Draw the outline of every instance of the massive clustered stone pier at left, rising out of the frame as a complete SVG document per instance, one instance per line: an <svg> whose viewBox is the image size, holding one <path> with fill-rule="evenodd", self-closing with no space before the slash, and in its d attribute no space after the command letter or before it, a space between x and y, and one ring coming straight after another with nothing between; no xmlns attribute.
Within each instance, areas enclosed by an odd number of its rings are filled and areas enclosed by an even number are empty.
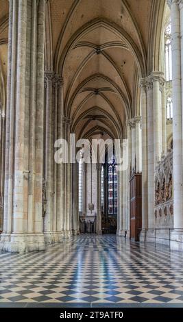
<svg viewBox="0 0 183 322"><path fill-rule="evenodd" d="M10 0L9 8L5 221L0 249L39 250L45 247L42 234L45 1ZM32 53L35 58L34 66ZM34 75L36 75L35 173L31 168L32 160L29 153L30 128L34 126L34 121L32 118L27 119L33 111L29 95L33 90ZM29 179L34 176L35 198L32 199L34 211L31 212ZM31 214L34 217L29 219Z"/></svg>

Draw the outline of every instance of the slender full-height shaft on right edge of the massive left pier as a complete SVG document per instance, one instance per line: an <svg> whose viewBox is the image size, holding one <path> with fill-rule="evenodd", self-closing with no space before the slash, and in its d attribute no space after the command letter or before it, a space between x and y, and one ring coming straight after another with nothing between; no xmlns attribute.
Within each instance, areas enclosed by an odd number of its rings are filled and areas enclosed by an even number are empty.
<svg viewBox="0 0 183 322"><path fill-rule="evenodd" d="M34 233L42 238L42 178L43 178L43 119L44 119L44 63L45 63L45 2L34 0L37 5L36 45L36 136L35 136L35 187L34 187ZM34 14L32 15L34 18ZM30 50L32 50L30 48ZM32 66L31 66L32 69ZM30 125L32 127L32 125Z"/></svg>

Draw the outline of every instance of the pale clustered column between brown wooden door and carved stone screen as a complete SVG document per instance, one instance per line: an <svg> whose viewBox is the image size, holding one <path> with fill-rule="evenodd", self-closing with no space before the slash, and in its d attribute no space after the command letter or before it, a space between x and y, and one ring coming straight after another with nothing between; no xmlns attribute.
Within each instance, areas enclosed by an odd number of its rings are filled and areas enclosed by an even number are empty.
<svg viewBox="0 0 183 322"><path fill-rule="evenodd" d="M164 104L164 78L160 72L154 72L141 79L142 110L142 219L144 238L145 229L149 229L149 238L154 236L154 170L166 152Z"/></svg>

